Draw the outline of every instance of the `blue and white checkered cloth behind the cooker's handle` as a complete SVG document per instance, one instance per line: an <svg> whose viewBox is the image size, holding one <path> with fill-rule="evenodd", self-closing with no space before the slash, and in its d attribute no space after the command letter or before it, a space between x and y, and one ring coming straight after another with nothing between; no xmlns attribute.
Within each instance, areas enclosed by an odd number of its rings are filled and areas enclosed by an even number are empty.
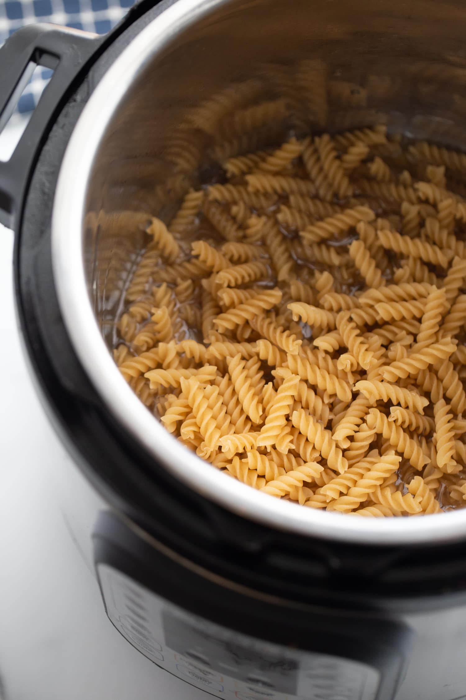
<svg viewBox="0 0 466 700"><path fill-rule="evenodd" d="M106 34L135 0L0 0L0 45L16 29L34 22L52 22ZM17 112L34 110L52 71L37 66L17 104Z"/></svg>

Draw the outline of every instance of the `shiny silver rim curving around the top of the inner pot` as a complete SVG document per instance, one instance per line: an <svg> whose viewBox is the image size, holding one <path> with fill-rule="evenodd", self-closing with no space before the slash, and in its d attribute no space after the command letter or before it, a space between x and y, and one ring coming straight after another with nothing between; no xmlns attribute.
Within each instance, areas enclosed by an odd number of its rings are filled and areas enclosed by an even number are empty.
<svg viewBox="0 0 466 700"><path fill-rule="evenodd" d="M152 57L180 31L226 1L177 0L164 10L110 66L73 130L54 197L52 267L59 307L75 352L108 410L157 461L191 489L241 517L290 533L359 545L438 545L462 540L466 537L466 508L442 517L353 518L298 507L226 478L156 421L126 384L105 345L87 292L82 246L94 157L126 91Z"/></svg>

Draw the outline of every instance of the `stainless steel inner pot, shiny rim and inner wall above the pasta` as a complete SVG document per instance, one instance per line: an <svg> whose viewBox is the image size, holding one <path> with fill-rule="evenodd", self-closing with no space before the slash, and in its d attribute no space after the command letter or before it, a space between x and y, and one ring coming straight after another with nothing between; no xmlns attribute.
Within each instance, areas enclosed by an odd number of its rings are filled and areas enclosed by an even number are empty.
<svg viewBox="0 0 466 700"><path fill-rule="evenodd" d="M154 459L245 517L353 542L466 537L466 509L369 521L264 496L166 432L109 351L122 290L147 242L147 215L170 216L189 186L215 178L217 116L231 110L232 95L243 108L284 99L282 122L261 130L257 148L292 133L386 123L391 132L461 149L465 27L461 0L178 0L119 56L73 132L54 202L52 253L78 357L109 411Z"/></svg>

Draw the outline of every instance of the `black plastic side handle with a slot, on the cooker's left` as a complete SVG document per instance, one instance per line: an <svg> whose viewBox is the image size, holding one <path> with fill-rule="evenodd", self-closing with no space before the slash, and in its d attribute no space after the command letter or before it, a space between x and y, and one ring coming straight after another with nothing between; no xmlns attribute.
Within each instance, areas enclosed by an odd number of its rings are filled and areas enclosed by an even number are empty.
<svg viewBox="0 0 466 700"><path fill-rule="evenodd" d="M54 70L13 155L0 162L0 223L17 230L31 167L67 88L102 37L79 29L38 24L18 29L0 49L0 132L36 65Z"/></svg>

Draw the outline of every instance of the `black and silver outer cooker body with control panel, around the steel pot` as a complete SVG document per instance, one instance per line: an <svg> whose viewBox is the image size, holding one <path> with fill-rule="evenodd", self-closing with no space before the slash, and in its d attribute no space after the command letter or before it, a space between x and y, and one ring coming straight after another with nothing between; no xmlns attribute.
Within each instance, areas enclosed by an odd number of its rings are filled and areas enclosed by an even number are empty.
<svg viewBox="0 0 466 700"><path fill-rule="evenodd" d="M155 679L159 666L176 675L185 682L176 695L182 700L206 693L238 700L466 697L464 543L338 545L238 517L154 464L105 409L75 356L52 276L55 185L89 94L158 11L146 9L89 64L51 125L15 241L31 372L88 479L73 465L57 465L55 505L67 514L83 566L92 568L112 633L126 639L128 655L118 661L131 675L137 650L147 659L138 673ZM75 602L83 620L95 615ZM96 649L93 673L106 653ZM135 697L157 697L156 686L148 687Z"/></svg>

